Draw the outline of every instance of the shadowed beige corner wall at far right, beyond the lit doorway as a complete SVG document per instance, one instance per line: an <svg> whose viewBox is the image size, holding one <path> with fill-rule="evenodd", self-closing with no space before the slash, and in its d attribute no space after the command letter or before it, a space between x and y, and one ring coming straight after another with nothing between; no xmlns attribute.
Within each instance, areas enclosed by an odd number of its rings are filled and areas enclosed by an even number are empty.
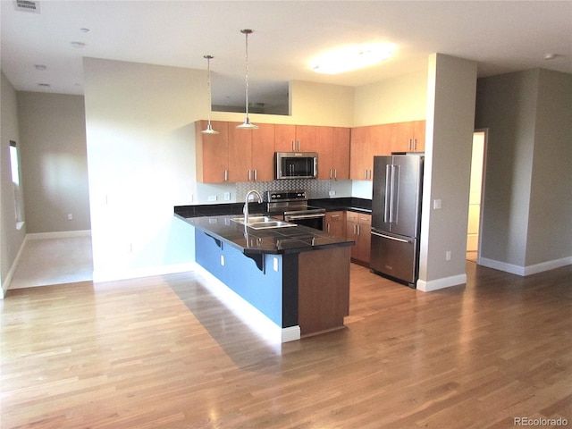
<svg viewBox="0 0 572 429"><path fill-rule="evenodd" d="M481 261L526 275L572 263L572 75L547 70L479 80L488 129Z"/></svg>

